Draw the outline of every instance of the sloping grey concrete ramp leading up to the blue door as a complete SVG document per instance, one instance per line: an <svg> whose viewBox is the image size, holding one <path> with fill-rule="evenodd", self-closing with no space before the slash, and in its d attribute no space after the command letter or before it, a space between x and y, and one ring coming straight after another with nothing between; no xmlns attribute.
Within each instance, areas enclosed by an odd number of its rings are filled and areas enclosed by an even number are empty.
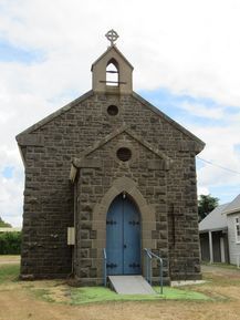
<svg viewBox="0 0 240 320"><path fill-rule="evenodd" d="M108 276L111 286L121 295L156 295L142 276Z"/></svg>

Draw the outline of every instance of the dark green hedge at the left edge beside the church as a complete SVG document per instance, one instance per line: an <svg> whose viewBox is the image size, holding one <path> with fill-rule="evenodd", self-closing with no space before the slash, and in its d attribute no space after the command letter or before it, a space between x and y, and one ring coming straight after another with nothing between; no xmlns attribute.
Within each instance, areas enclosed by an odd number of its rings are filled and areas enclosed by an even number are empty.
<svg viewBox="0 0 240 320"><path fill-rule="evenodd" d="M0 233L0 255L21 254L22 233Z"/></svg>

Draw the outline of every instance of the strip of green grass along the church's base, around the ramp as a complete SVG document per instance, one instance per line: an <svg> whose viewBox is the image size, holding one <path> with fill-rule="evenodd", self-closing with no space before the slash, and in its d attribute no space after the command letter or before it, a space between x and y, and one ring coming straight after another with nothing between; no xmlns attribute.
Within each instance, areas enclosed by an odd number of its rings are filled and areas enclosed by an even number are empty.
<svg viewBox="0 0 240 320"><path fill-rule="evenodd" d="M19 276L19 264L0 265L0 285L17 282ZM58 295L69 296L64 303L84 304L91 302L105 301L156 301L156 300L211 300L204 293L196 292L189 289L176 289L164 287L164 293L156 295L117 295L116 292L104 287L84 287L73 288L58 281L18 281L25 289L40 299L49 302L55 302L54 292L59 287ZM15 285L18 285L15 283ZM155 287L156 292L160 292L159 287Z"/></svg>

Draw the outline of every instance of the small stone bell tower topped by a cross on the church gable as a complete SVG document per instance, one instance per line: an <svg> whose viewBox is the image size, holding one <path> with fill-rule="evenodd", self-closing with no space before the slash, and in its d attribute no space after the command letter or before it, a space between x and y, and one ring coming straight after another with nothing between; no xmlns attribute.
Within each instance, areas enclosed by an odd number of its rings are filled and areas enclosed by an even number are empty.
<svg viewBox="0 0 240 320"><path fill-rule="evenodd" d="M94 92L131 94L133 92L133 65L114 43L118 34L114 30L106 33L111 45L92 65Z"/></svg>

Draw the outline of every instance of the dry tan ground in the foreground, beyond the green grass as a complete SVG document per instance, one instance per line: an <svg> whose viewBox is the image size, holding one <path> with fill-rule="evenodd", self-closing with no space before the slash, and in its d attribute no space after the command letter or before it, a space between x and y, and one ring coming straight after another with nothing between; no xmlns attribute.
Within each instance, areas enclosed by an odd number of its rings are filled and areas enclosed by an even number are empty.
<svg viewBox="0 0 240 320"><path fill-rule="evenodd" d="M0 320L239 320L240 270L204 267L204 276L207 283L194 286L194 290L217 297L215 301L159 300L71 306L61 297L59 302L42 301L29 290L30 287L48 288L53 281L9 281L0 285ZM61 286L55 286L55 298L58 290L61 292L63 289Z"/></svg>

